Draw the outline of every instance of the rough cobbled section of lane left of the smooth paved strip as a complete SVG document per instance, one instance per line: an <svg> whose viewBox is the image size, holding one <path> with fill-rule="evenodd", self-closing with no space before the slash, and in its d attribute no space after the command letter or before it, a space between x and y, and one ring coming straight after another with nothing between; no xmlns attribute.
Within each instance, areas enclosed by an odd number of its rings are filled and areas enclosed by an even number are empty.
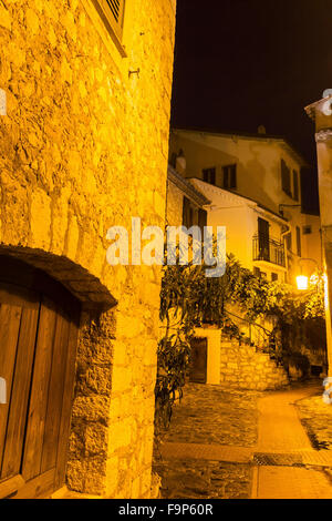
<svg viewBox="0 0 332 521"><path fill-rule="evenodd" d="M199 384L185 387L162 448L163 458L155 464L163 498L250 497L260 396Z"/></svg>

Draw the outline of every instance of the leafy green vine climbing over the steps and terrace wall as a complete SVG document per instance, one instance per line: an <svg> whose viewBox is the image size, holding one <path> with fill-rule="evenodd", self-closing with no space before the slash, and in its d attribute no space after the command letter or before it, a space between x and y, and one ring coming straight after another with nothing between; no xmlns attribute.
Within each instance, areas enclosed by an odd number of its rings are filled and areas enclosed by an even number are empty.
<svg viewBox="0 0 332 521"><path fill-rule="evenodd" d="M283 356L292 349L294 337L308 320L323 327L323 277L320 275L305 294L291 286L255 276L229 255L222 277L207 278L205 266L165 266L160 293L162 338L158 344L155 427L157 436L168 427L175 400L180 399L190 362L190 340L195 327L216 324L237 336L237 326L226 313L236 304L249 320L277 318ZM298 357L299 358L299 357Z"/></svg>

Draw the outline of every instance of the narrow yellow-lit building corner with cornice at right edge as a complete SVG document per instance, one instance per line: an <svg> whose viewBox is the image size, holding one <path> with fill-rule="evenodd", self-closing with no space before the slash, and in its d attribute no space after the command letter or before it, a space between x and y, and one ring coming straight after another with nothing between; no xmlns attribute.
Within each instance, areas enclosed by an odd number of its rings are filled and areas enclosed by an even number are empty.
<svg viewBox="0 0 332 521"><path fill-rule="evenodd" d="M326 344L329 376L332 377L332 90L323 99L305 108L315 123L319 192L323 241L323 263L328 275L325 287Z"/></svg>

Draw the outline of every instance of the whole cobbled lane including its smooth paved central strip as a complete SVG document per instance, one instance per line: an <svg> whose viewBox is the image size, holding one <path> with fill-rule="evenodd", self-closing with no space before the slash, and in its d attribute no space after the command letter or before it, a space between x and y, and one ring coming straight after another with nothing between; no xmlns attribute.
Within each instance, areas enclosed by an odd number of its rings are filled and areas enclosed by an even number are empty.
<svg viewBox="0 0 332 521"><path fill-rule="evenodd" d="M187 385L155 459L162 497L332 499L331 432L314 382L278 392Z"/></svg>

